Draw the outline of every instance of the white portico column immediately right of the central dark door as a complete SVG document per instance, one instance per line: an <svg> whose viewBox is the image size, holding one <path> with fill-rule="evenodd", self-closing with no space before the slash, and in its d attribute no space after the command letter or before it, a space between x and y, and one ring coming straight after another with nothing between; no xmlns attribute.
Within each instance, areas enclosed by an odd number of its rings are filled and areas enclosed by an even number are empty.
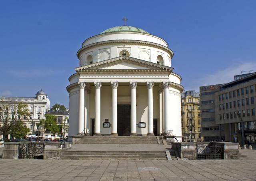
<svg viewBox="0 0 256 181"><path fill-rule="evenodd" d="M136 114L137 82L130 82L130 86L131 86L131 135L137 135L137 114Z"/></svg>

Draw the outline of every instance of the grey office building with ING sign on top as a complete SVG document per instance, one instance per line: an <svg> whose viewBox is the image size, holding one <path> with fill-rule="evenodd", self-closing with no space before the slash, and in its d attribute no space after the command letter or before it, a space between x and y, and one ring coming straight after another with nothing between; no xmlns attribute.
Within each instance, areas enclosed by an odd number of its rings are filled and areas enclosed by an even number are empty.
<svg viewBox="0 0 256 181"><path fill-rule="evenodd" d="M201 106L201 136L204 141L222 141L224 133L220 134L220 127L215 122L215 93L222 84L200 87Z"/></svg>

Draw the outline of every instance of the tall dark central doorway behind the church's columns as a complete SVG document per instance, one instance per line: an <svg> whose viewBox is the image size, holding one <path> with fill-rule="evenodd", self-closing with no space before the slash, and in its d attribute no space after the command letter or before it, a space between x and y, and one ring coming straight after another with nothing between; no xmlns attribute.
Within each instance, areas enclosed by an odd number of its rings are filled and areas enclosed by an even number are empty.
<svg viewBox="0 0 256 181"><path fill-rule="evenodd" d="M131 105L117 105L117 133L119 136L130 136Z"/></svg>

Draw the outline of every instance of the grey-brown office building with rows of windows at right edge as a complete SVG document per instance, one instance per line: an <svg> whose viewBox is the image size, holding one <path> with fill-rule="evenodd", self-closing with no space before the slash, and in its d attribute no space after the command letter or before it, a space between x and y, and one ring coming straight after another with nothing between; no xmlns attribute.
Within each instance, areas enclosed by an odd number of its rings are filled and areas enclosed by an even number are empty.
<svg viewBox="0 0 256 181"><path fill-rule="evenodd" d="M224 126L225 141L256 140L256 73L220 86L215 94L216 123ZM243 124L242 124L243 123ZM243 129L242 130L242 125Z"/></svg>

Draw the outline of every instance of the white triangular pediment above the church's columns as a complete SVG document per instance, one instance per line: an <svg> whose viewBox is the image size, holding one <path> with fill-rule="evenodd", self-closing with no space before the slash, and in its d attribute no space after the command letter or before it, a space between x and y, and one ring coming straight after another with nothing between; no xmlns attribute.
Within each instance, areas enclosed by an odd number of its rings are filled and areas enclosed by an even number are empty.
<svg viewBox="0 0 256 181"><path fill-rule="evenodd" d="M77 72L84 70L164 70L172 71L173 68L168 66L163 66L160 64L155 64L145 60L140 60L127 56L120 56L117 58L112 58L109 60L104 60L101 62L96 62L94 64L81 66L75 68Z"/></svg>

